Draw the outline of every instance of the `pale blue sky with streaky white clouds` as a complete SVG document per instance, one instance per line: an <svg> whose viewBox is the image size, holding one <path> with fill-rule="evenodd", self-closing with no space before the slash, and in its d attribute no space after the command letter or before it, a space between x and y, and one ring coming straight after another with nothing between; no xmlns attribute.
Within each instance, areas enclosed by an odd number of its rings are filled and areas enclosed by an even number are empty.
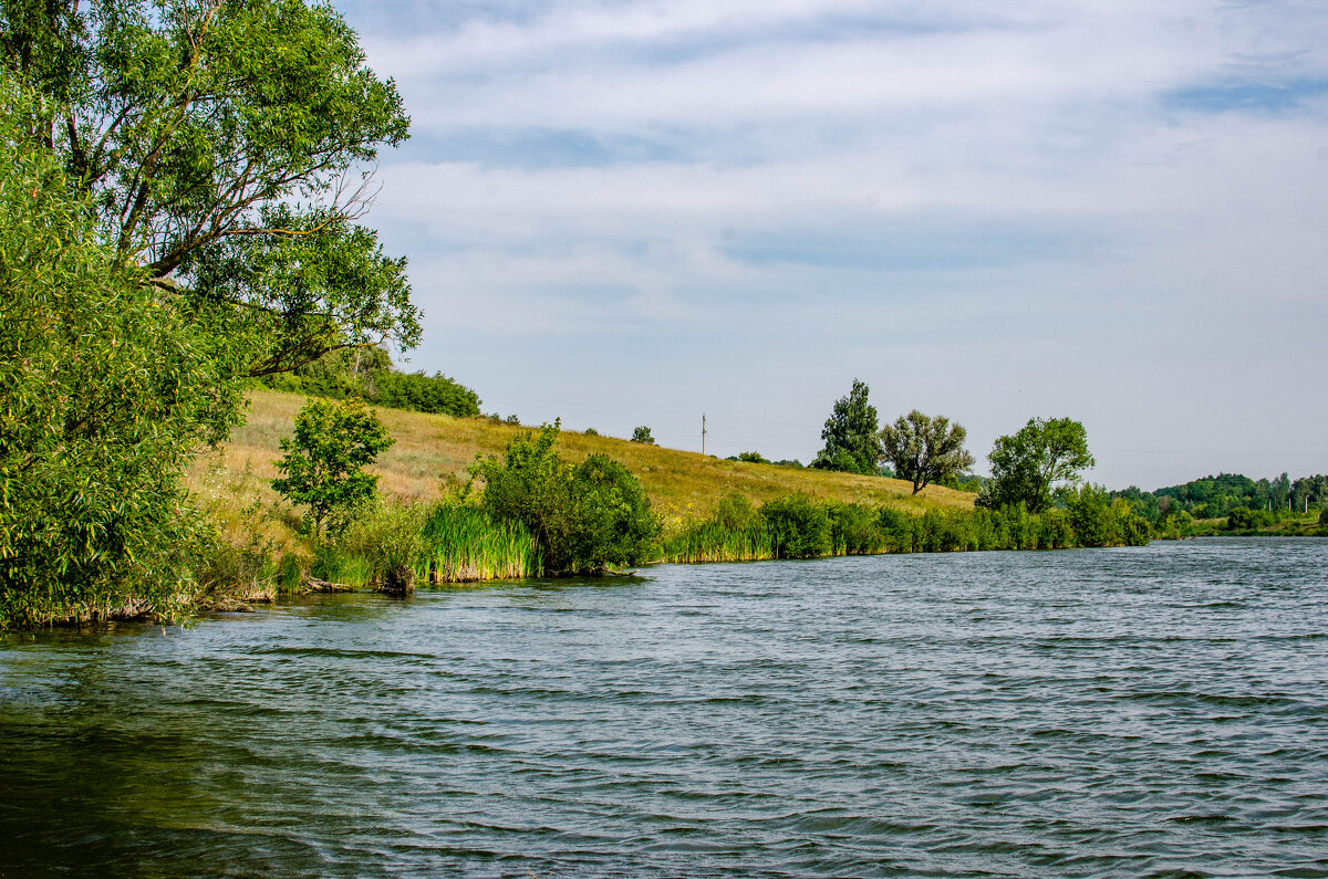
<svg viewBox="0 0 1328 879"><path fill-rule="evenodd" d="M406 369L803 463L1082 421L1109 487L1328 473L1323 0L336 0L412 138Z"/></svg>

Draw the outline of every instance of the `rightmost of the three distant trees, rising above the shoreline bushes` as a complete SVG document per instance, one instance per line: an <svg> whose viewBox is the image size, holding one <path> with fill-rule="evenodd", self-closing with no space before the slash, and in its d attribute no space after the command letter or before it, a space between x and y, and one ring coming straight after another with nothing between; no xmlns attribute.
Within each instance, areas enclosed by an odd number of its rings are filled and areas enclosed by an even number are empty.
<svg viewBox="0 0 1328 879"><path fill-rule="evenodd" d="M992 478L979 493L977 505L1023 502L1031 513L1052 506L1056 483L1073 483L1080 470L1096 463L1088 450L1088 432L1070 418L1031 418L1019 433L999 437L987 459Z"/></svg>

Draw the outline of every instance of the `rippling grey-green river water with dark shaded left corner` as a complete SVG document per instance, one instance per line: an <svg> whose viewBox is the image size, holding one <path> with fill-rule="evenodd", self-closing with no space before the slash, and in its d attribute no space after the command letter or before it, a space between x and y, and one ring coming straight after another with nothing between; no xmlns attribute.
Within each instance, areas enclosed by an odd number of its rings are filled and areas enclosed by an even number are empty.
<svg viewBox="0 0 1328 879"><path fill-rule="evenodd" d="M1328 876L1328 539L0 635L0 875Z"/></svg>

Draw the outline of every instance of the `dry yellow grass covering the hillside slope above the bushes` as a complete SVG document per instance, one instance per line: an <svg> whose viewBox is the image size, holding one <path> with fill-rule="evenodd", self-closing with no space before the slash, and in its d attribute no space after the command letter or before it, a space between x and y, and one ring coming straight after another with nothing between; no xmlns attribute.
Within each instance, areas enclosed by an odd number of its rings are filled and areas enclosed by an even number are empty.
<svg viewBox="0 0 1328 879"><path fill-rule="evenodd" d="M255 390L250 394L248 420L223 449L195 465L191 481L207 497L232 497L234 503L272 503L278 442L293 432L295 413L304 405L297 394ZM441 479L465 479L477 454L502 454L507 441L530 430L493 424L486 418L452 418L417 412L378 409L378 417L396 438L371 471L386 495L405 501L437 498ZM588 454L607 454L632 471L667 524L679 526L708 515L725 494L738 491L753 505L791 491L841 502L888 505L911 513L928 507L972 509L973 495L943 486L927 486L912 497L902 479L859 477L822 470L798 470L765 463L721 461L695 451L647 446L612 437L562 434L564 458L580 461Z"/></svg>

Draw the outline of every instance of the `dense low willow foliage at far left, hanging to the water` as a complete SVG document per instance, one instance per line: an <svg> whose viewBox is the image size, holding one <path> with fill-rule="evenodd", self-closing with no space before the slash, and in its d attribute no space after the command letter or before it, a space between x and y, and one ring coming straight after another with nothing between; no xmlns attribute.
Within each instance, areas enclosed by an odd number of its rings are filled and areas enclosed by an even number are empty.
<svg viewBox="0 0 1328 879"><path fill-rule="evenodd" d="M0 625L183 608L195 450L238 389L178 303L100 243L0 77Z"/></svg>

